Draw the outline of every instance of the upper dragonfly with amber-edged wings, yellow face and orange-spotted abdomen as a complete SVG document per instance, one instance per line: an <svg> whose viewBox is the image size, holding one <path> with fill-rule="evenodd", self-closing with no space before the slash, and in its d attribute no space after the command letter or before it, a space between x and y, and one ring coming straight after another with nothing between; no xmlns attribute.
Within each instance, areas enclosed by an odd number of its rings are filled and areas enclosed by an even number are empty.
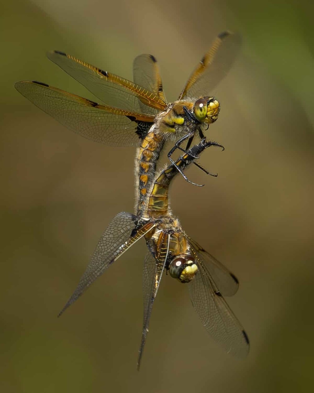
<svg viewBox="0 0 314 393"><path fill-rule="evenodd" d="M195 135L219 115L219 101L210 91L226 75L241 45L239 34L225 31L190 75L177 101L167 103L157 60L139 55L133 62L133 82L104 71L62 51L47 57L83 84L100 103L37 81L21 81L15 88L61 124L81 136L109 146L136 146L136 214L147 209L159 155L164 144L177 140L168 152L186 151ZM186 147L181 145L186 141ZM195 165L204 170L199 164ZM191 182L177 167L185 180ZM210 173L208 173L210 174ZM199 185L199 184L195 184Z"/></svg>

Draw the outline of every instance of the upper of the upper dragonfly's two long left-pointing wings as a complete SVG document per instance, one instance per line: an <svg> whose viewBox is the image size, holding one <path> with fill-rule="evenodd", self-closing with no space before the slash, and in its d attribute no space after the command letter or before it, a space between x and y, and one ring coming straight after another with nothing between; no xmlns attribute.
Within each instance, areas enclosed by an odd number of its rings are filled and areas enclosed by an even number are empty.
<svg viewBox="0 0 314 393"><path fill-rule="evenodd" d="M76 57L60 51L48 52L47 57L107 105L132 112L141 112L139 104L139 100L141 100L142 104L145 104L143 113L147 113L146 106L158 110L163 110L166 107L166 103L147 88L113 73L103 71Z"/></svg>

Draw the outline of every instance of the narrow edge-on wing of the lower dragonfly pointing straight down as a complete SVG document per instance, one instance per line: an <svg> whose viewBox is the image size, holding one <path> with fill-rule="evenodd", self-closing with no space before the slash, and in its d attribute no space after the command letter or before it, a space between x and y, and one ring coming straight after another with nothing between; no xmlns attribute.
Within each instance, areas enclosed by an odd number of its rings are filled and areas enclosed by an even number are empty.
<svg viewBox="0 0 314 393"><path fill-rule="evenodd" d="M144 295L144 318L143 318L143 330L142 340L139 349L139 357L137 359L137 369L140 368L141 358L144 350L146 336L148 333L148 325L150 316L152 314L153 303L157 296L159 284L161 281L162 273L167 261L169 252L169 239L170 235L161 233L159 247L156 252L153 251L152 247L148 244L148 253L144 261L143 270L143 295Z"/></svg>

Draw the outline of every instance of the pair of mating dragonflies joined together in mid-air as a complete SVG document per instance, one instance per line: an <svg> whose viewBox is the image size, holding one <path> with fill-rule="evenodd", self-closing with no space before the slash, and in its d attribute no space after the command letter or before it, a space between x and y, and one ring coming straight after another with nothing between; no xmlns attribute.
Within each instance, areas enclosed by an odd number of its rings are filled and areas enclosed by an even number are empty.
<svg viewBox="0 0 314 393"><path fill-rule="evenodd" d="M138 147L135 215L122 212L111 221L75 292L60 312L143 237L148 254L144 262L144 321L138 367L164 270L188 283L192 303L203 325L226 351L245 356L249 350L248 336L223 298L237 292L236 277L186 235L168 203L172 178L181 173L190 182L184 169L191 163L203 169L195 162L199 154L207 147L221 146L204 138L204 131L219 114L219 102L204 93L208 94L225 76L240 42L237 34L218 35L173 103L166 102L157 61L152 55L135 58L134 82L131 82L66 53L48 53L50 60L86 86L102 103L41 82L15 84L37 107L85 138L111 146ZM195 135L200 142L191 147ZM168 152L171 165L157 173L159 155L169 140L177 140ZM184 141L187 143L183 149ZM177 149L184 154L174 161L171 156Z"/></svg>

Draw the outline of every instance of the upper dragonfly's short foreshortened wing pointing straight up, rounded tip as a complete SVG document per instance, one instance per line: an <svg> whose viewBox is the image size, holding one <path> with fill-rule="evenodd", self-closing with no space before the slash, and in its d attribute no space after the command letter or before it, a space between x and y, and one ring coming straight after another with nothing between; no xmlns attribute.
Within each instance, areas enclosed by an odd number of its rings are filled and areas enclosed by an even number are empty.
<svg viewBox="0 0 314 393"><path fill-rule="evenodd" d="M157 60L153 55L139 55L133 61L133 81L147 90L150 90L158 95L162 101L166 102L164 91L162 88L161 75L159 73L159 66ZM150 115L155 115L157 109L147 108L145 104L140 101L141 111Z"/></svg>

